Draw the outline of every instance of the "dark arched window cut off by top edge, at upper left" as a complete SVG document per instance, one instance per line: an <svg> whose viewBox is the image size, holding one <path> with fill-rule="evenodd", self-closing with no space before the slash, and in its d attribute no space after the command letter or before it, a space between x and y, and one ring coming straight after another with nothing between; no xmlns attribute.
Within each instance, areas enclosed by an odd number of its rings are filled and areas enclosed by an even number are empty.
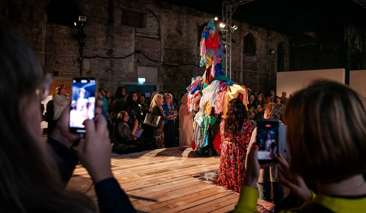
<svg viewBox="0 0 366 213"><path fill-rule="evenodd" d="M47 21L55 24L74 26L80 9L73 0L51 0L48 5Z"/></svg>

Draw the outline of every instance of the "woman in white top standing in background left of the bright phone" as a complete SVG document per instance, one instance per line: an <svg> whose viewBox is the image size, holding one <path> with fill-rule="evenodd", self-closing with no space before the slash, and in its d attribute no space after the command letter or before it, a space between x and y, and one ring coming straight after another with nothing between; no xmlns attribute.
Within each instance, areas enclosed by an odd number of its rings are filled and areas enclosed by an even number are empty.
<svg viewBox="0 0 366 213"><path fill-rule="evenodd" d="M64 111L67 104L71 100L70 95L66 94L66 92L67 87L65 87L65 85L60 84L58 87L56 87L56 93L53 96L53 105L55 105L55 108L53 108L54 120L59 119L61 113Z"/></svg>

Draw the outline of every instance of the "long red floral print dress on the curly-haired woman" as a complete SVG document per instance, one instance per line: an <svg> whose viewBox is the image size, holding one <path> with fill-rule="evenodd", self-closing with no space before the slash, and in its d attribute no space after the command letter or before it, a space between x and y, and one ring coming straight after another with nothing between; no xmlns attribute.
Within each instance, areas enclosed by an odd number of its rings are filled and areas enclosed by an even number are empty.
<svg viewBox="0 0 366 213"><path fill-rule="evenodd" d="M245 120L242 129L235 134L235 140L224 133L226 118L220 123L221 133L221 158L219 167L219 186L224 186L228 190L240 193L240 187L245 178L245 157L255 128L254 124ZM240 144L239 144L240 143Z"/></svg>

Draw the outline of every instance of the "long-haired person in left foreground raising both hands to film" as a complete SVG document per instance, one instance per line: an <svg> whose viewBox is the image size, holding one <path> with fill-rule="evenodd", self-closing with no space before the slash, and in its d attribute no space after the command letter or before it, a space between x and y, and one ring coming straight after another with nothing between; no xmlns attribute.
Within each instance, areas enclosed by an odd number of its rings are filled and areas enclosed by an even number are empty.
<svg viewBox="0 0 366 213"><path fill-rule="evenodd" d="M48 95L45 75L33 50L0 26L0 212L96 212L85 195L66 190L78 156L95 183L100 209L133 212L110 168L107 121L86 120L85 138L68 131L69 110L60 115L48 143L40 137L40 101ZM8 88L14 88L10 93ZM96 115L101 110L96 109ZM108 157L107 157L108 156ZM108 189L108 187L111 190ZM111 202L111 197L117 202ZM123 204L119 202L122 201ZM119 212L121 212L120 210Z"/></svg>

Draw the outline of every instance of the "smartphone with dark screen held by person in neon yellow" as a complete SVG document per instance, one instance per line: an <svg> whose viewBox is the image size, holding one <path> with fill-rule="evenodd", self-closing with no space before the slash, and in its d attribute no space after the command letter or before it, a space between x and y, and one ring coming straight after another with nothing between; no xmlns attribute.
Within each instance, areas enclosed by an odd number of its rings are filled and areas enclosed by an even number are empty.
<svg viewBox="0 0 366 213"><path fill-rule="evenodd" d="M278 127L276 119L259 119L257 121L257 141L259 164L276 161L278 155Z"/></svg>

